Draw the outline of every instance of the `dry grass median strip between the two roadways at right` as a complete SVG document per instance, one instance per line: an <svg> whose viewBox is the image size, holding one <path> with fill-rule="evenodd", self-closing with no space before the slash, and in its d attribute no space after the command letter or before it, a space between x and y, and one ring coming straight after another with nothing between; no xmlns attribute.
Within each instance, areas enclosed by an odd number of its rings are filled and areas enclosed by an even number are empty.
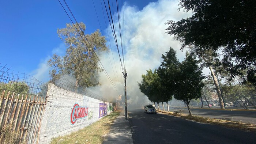
<svg viewBox="0 0 256 144"><path fill-rule="evenodd" d="M246 131L256 132L256 125L249 124L249 123L242 123L236 121L227 121L227 120L219 120L215 118L205 118L205 117L198 117L198 116L189 116L187 114L174 114L173 112L167 111L158 111L159 113L165 113L169 115L173 115L175 117L185 118L187 120L196 121L196 122L203 122L208 124L215 124L215 125L223 125L229 128L237 128Z"/></svg>

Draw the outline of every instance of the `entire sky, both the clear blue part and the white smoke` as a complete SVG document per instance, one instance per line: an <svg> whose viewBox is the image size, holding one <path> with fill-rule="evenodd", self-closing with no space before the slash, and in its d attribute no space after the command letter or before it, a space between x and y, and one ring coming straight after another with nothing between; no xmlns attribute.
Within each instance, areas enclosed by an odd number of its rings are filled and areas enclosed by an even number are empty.
<svg viewBox="0 0 256 144"><path fill-rule="evenodd" d="M64 4L63 0L60 0ZM103 3L103 0L101 0ZM114 84L123 91L123 75L120 71L118 54L113 35L107 21L103 17L101 1L94 0L99 22L92 0L66 0L78 22L86 24L86 33L100 29L111 43L112 53L100 56L105 71L109 73ZM110 5L112 5L110 1ZM107 3L107 0L105 0ZM113 1L116 2L116 1ZM124 6L125 4L125 6ZM157 68L162 59L161 54L170 46L177 50L178 59L184 60L185 52L181 52L180 43L165 34L168 19L180 20L191 16L191 12L178 11L176 0L119 0L119 10L124 12L125 28L125 67L128 72L128 95L140 97L137 82L146 69ZM103 9L105 12L105 8ZM116 16L116 6L114 14ZM105 15L105 18L107 16ZM65 54L65 46L57 35L57 29L65 28L71 23L58 0L35 1L0 1L0 65L11 67L14 73L27 73L43 82L49 80L49 68L46 62L53 53ZM117 19L116 24L118 24ZM118 27L116 25L116 27ZM109 37L107 34L109 32ZM120 42L119 42L120 43ZM110 59L110 60L109 60ZM112 62L111 62L112 61ZM112 63L112 65L111 65ZM116 69L113 64L116 64ZM100 87L95 87L99 95L108 91L108 95L117 95L104 73L100 75ZM112 92L113 91L113 92Z"/></svg>

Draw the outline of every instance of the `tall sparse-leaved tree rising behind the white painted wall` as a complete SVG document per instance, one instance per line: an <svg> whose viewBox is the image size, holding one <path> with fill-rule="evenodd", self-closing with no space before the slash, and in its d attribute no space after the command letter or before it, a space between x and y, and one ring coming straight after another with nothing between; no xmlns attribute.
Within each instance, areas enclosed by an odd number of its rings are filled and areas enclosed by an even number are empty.
<svg viewBox="0 0 256 144"><path fill-rule="evenodd" d="M75 25L66 24L66 28L58 29L58 35L67 47L66 54L63 57L53 54L48 61L50 74L72 75L76 79L77 87L99 84L98 72L102 69L97 64L96 53L108 50L106 39L99 30L89 35L84 34L85 29L86 26L82 22Z"/></svg>

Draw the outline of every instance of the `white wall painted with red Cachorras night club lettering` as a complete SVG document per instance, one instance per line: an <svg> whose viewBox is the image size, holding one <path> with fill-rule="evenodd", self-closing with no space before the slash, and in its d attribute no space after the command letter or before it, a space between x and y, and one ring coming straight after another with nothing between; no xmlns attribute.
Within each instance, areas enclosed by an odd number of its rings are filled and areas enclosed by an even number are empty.
<svg viewBox="0 0 256 144"><path fill-rule="evenodd" d="M64 90L54 84L49 84L47 96L42 116L40 144L50 143L53 137L82 129L112 112L112 103ZM78 109L80 113L77 112L77 115L82 118L76 119L75 111Z"/></svg>

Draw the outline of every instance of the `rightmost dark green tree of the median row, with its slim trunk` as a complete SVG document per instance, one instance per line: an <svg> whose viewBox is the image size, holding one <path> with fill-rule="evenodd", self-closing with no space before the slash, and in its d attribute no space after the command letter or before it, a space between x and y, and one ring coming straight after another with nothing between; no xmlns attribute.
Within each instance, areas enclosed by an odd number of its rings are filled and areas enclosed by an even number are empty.
<svg viewBox="0 0 256 144"><path fill-rule="evenodd" d="M174 98L183 101L192 116L189 103L192 99L202 96L203 79L202 68L198 66L198 61L193 54L186 53L185 60L178 66L176 73L176 88Z"/></svg>

